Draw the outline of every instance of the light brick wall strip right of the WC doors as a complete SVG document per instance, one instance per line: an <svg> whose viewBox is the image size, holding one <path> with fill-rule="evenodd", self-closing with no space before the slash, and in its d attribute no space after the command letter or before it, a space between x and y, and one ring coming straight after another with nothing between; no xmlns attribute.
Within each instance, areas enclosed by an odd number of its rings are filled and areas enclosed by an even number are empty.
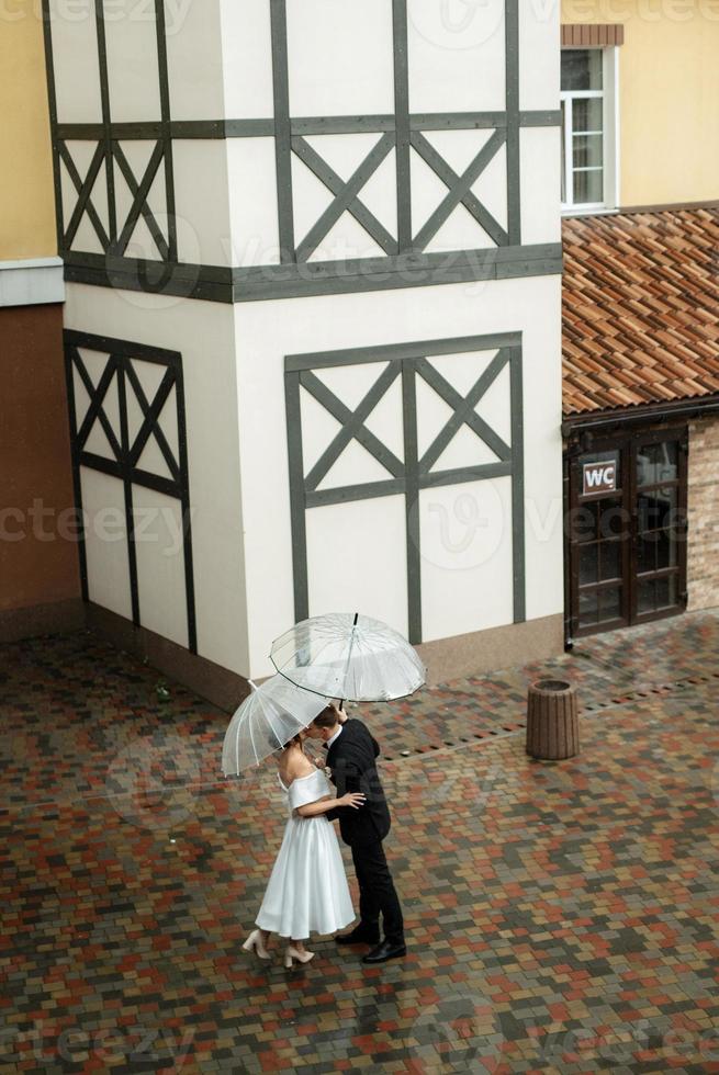
<svg viewBox="0 0 719 1075"><path fill-rule="evenodd" d="M688 609L719 606L719 418L689 422Z"/></svg>

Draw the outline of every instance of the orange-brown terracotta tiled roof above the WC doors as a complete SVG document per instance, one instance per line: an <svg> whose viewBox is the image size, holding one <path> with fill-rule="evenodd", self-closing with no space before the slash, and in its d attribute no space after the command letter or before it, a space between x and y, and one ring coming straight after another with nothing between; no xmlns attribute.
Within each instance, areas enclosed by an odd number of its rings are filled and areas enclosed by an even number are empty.
<svg viewBox="0 0 719 1075"><path fill-rule="evenodd" d="M719 393L719 208L563 222L564 414Z"/></svg>

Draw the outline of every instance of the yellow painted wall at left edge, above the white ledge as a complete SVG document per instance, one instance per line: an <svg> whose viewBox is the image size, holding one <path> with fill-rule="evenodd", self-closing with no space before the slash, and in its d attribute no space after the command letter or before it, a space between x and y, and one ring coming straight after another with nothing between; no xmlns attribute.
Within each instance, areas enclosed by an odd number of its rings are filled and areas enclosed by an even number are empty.
<svg viewBox="0 0 719 1075"><path fill-rule="evenodd" d="M0 261L57 253L38 8L35 0L0 3Z"/></svg>

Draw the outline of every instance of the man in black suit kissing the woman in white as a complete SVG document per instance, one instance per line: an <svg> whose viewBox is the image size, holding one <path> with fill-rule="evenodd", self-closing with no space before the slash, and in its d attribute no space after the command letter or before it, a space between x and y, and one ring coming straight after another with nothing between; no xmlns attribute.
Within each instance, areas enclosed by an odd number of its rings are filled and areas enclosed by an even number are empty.
<svg viewBox="0 0 719 1075"><path fill-rule="evenodd" d="M339 818L342 840L352 849L360 889L360 921L351 933L336 937L338 944L372 944L363 963L384 963L406 954L402 908L382 847L390 831L390 811L380 783L375 760L380 747L361 721L339 722L339 712L328 705L315 717L313 727L327 747L327 766L337 794L361 791L367 796L360 810L338 806L325 814ZM380 941L380 913L384 940Z"/></svg>

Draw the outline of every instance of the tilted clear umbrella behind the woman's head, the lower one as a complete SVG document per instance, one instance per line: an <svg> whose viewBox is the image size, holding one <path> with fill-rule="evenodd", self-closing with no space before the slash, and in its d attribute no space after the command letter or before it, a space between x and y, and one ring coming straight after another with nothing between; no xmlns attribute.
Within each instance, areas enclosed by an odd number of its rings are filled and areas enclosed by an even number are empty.
<svg viewBox="0 0 719 1075"><path fill-rule="evenodd" d="M239 774L280 750L293 735L314 721L327 704L317 694L301 690L284 676L272 676L252 688L233 715L222 748L222 771Z"/></svg>

